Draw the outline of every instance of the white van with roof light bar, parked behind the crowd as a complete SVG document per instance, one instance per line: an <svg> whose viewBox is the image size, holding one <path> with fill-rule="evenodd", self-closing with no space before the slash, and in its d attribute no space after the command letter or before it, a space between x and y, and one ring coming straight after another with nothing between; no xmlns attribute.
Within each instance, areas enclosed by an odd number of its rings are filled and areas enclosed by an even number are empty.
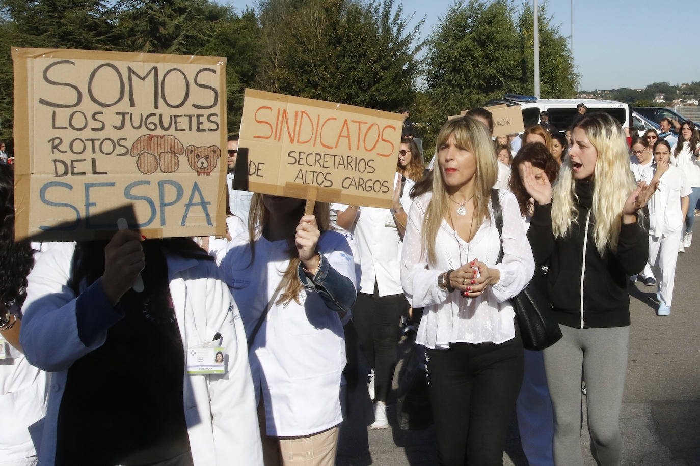
<svg viewBox="0 0 700 466"><path fill-rule="evenodd" d="M534 96L520 96L517 94L505 94L503 99L493 99L486 102L484 107L491 105L520 105L523 112L523 123L526 128L540 122L540 112L549 113L548 123L563 133L571 126L577 110L576 105L586 105L586 115L597 112L605 112L617 119L623 128L629 127L629 105L617 101L603 101L598 99L538 99Z"/></svg>

